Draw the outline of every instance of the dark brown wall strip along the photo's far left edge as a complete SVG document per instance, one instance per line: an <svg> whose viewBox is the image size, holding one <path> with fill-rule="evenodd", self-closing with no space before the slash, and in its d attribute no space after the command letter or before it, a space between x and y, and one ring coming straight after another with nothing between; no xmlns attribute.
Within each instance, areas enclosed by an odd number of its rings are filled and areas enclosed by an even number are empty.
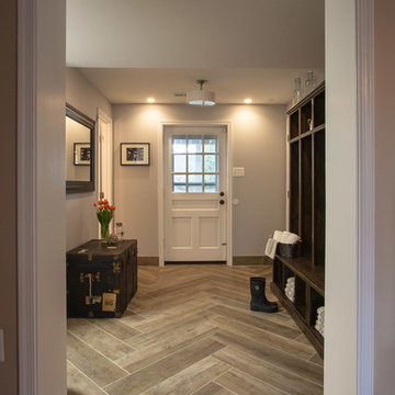
<svg viewBox="0 0 395 395"><path fill-rule="evenodd" d="M0 1L0 329L5 339L0 392L16 395L16 0Z"/></svg>

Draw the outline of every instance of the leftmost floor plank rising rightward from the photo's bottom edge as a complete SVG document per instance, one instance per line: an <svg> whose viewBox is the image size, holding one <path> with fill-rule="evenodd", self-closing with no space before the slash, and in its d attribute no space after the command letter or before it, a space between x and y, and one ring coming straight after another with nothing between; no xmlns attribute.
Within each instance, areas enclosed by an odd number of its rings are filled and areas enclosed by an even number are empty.
<svg viewBox="0 0 395 395"><path fill-rule="evenodd" d="M131 374L104 390L110 395L137 395L211 356L224 346L215 340L194 342L173 354Z"/></svg>

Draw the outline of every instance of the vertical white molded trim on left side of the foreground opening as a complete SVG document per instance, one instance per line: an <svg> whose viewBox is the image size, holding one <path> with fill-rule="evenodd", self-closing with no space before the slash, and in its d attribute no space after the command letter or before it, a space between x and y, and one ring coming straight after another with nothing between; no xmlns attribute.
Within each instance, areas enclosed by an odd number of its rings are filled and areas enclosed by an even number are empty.
<svg viewBox="0 0 395 395"><path fill-rule="evenodd" d="M18 0L19 394L37 395L36 0Z"/></svg>

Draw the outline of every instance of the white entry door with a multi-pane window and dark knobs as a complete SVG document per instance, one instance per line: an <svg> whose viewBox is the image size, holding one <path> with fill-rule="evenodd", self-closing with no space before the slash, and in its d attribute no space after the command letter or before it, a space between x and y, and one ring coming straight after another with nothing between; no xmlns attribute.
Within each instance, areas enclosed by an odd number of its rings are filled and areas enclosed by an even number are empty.
<svg viewBox="0 0 395 395"><path fill-rule="evenodd" d="M226 127L165 127L165 261L226 261Z"/></svg>

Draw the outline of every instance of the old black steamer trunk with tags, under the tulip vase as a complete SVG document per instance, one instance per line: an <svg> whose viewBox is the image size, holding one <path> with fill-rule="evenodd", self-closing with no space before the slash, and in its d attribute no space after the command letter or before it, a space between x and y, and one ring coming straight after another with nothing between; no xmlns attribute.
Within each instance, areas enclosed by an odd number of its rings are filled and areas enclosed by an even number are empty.
<svg viewBox="0 0 395 395"><path fill-rule="evenodd" d="M90 240L66 255L67 316L121 317L137 291L137 241Z"/></svg>

